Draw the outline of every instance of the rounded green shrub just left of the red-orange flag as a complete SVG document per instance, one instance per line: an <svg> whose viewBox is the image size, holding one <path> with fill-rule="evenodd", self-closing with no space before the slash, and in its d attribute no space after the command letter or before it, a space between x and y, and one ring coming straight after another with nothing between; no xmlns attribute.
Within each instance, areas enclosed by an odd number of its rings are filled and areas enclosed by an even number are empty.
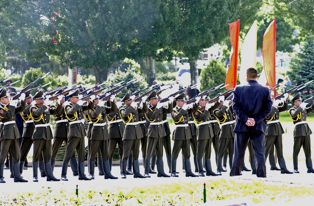
<svg viewBox="0 0 314 206"><path fill-rule="evenodd" d="M226 74L227 71L221 62L211 60L200 74L201 91L206 91L213 86L225 83Z"/></svg>

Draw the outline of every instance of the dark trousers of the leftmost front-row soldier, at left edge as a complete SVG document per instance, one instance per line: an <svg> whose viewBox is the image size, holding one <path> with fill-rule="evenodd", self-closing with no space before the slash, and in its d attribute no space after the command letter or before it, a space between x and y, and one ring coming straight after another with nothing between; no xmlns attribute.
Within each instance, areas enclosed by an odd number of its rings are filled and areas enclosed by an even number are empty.
<svg viewBox="0 0 314 206"><path fill-rule="evenodd" d="M19 139L3 139L1 140L1 152L0 152L0 165L4 164L8 153L10 153L10 160L13 160L13 164L19 162Z"/></svg>

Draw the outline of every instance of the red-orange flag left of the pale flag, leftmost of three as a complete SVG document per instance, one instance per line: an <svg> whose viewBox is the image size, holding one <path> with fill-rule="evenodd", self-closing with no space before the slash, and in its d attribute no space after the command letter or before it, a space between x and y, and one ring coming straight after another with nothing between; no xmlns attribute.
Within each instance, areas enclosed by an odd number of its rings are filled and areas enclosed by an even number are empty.
<svg viewBox="0 0 314 206"><path fill-rule="evenodd" d="M226 75L225 84L226 89L233 89L236 87L237 69L238 69L238 45L239 45L239 30L240 30L240 19L232 22L230 25L230 42L231 42L231 52L230 52L230 66Z"/></svg>

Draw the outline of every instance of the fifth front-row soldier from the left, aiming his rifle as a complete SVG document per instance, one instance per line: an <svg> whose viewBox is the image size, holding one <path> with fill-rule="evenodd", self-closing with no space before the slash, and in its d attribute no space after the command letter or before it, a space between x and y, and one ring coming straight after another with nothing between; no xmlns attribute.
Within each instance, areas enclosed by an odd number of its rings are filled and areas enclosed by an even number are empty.
<svg viewBox="0 0 314 206"><path fill-rule="evenodd" d="M127 158L132 153L132 164L133 164L133 177L134 178L145 178L143 175L139 173L139 163L138 163L138 155L139 155L139 143L140 139L143 138L143 133L138 125L139 122L139 114L143 114L147 112L147 104L146 97L143 97L143 107L137 106L137 102L134 102L131 98L131 91L128 91L126 95L122 98L124 102L124 106L119 110L121 115L121 119L124 123L126 123L126 127L123 133L123 155L122 155L122 179L127 178L126 170L127 170Z"/></svg>

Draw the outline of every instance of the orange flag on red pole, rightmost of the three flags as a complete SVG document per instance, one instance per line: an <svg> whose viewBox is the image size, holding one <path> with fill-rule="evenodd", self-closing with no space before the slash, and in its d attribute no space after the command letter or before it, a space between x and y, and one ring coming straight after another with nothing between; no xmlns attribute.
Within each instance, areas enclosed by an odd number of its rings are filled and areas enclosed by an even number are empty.
<svg viewBox="0 0 314 206"><path fill-rule="evenodd" d="M264 33L262 54L267 84L272 88L276 85L276 18Z"/></svg>

